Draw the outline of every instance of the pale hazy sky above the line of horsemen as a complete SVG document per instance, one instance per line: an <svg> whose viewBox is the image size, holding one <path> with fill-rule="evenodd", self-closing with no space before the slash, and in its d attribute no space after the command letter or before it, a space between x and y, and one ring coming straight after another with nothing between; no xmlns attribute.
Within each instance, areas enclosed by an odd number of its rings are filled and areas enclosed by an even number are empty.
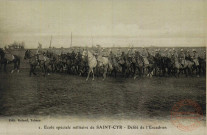
<svg viewBox="0 0 207 135"><path fill-rule="evenodd" d="M205 46L206 0L0 0L0 47Z"/></svg>

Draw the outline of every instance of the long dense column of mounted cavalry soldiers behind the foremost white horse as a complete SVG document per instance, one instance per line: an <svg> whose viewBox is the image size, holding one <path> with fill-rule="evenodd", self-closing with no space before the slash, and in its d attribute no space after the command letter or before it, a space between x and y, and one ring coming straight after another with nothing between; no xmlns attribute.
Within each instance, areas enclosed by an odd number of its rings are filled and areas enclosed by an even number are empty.
<svg viewBox="0 0 207 135"><path fill-rule="evenodd" d="M138 76L179 76L180 74L199 76L206 73L206 52L203 51L199 55L196 49L151 48L149 50L149 48L142 48L138 50L129 48L124 51L99 46L92 49L72 49L71 52L61 54L49 50L37 50L37 52L26 50L24 59L29 60L30 75L35 75L35 68L39 66L45 74L61 72L85 76L90 67L89 53L96 59L97 64L94 67L96 76L103 74L104 69L107 69L107 76L116 77L120 74L134 78ZM103 58L108 60L105 65Z"/></svg>

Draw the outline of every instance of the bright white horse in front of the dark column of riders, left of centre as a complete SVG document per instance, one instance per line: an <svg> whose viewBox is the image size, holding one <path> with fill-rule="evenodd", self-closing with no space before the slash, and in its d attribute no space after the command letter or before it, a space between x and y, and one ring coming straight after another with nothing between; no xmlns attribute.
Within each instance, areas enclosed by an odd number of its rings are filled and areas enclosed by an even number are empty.
<svg viewBox="0 0 207 135"><path fill-rule="evenodd" d="M104 69L103 80L105 80L106 79L107 69L108 69L108 67L112 66L109 63L108 58L107 57L98 56L98 58L96 59L96 57L90 51L83 51L82 58L84 58L84 57L88 58L88 66L89 66L89 71L88 71L88 76L86 78L86 81L88 80L91 72L93 74L93 79L92 80L94 80L94 68L96 66L103 67L103 69Z"/></svg>

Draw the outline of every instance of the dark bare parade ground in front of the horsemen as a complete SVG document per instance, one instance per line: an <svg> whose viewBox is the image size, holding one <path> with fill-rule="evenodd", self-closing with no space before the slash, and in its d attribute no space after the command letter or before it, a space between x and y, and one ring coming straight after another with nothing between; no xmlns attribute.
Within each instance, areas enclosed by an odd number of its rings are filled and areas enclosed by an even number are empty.
<svg viewBox="0 0 207 135"><path fill-rule="evenodd" d="M165 118L183 99L196 101L206 114L205 77L96 78L51 74L29 77L0 72L0 116L83 116Z"/></svg>

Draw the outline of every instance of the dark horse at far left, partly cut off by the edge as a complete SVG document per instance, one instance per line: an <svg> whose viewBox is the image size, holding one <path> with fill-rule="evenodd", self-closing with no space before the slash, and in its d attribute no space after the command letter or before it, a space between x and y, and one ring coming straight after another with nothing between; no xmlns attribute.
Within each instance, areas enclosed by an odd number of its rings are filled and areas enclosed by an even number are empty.
<svg viewBox="0 0 207 135"><path fill-rule="evenodd" d="M17 55L11 54L9 51L5 52L4 50L0 49L0 69L1 66L4 65L4 71L7 72L6 66L7 64L14 63L13 69L11 73L13 73L15 70L19 73L20 68L20 57Z"/></svg>

